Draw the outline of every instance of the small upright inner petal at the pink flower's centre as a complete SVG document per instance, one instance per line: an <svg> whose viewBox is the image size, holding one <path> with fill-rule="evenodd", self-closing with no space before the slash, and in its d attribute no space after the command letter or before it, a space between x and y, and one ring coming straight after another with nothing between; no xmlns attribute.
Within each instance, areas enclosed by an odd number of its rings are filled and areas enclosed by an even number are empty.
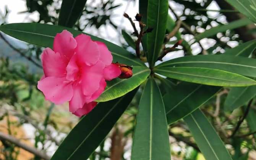
<svg viewBox="0 0 256 160"><path fill-rule="evenodd" d="M79 67L76 64L76 54L72 56L70 61L68 62L68 66L66 67L67 75L66 79L69 81L75 81L79 77Z"/></svg>

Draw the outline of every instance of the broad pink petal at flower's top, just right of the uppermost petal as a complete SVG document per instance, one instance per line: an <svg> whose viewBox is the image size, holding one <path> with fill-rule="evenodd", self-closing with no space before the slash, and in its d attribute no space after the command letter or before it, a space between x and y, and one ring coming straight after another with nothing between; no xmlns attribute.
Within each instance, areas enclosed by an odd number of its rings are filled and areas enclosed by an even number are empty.
<svg viewBox="0 0 256 160"><path fill-rule="evenodd" d="M80 34L76 38L77 47L76 54L80 63L85 63L88 66L99 61L100 53L96 42L91 40L91 37L85 34Z"/></svg>

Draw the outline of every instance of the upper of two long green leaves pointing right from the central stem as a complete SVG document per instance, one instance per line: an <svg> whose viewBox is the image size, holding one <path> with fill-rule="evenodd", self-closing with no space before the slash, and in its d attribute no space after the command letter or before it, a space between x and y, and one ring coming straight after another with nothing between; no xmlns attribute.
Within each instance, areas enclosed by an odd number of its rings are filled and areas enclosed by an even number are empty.
<svg viewBox="0 0 256 160"><path fill-rule="evenodd" d="M203 67L220 69L228 72L256 77L256 59L228 55L197 55L172 59L159 64L156 68L163 67Z"/></svg>

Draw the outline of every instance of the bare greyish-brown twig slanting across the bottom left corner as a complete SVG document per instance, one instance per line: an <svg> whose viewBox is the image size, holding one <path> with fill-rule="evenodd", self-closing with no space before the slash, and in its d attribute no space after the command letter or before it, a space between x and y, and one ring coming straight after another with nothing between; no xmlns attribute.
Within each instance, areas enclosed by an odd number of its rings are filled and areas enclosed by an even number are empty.
<svg viewBox="0 0 256 160"><path fill-rule="evenodd" d="M40 157L45 160L50 160L50 157L48 157L45 153L42 153L39 150L37 150L36 148L28 146L28 145L20 142L19 139L16 139L13 136L10 136L8 134L4 134L4 133L0 132L0 140L11 142L11 143L15 144L16 146L21 147L24 150L27 150L28 152L36 155L37 157Z"/></svg>

